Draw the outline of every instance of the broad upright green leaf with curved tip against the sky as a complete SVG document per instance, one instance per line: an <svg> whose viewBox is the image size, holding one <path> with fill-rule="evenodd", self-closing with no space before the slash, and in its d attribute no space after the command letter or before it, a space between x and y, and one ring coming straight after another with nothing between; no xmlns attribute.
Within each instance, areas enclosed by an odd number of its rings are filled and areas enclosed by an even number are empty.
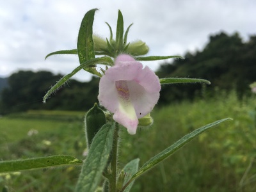
<svg viewBox="0 0 256 192"><path fill-rule="evenodd" d="M97 9L88 11L81 22L77 38L77 53L80 64L95 58L93 50L92 25Z"/></svg>

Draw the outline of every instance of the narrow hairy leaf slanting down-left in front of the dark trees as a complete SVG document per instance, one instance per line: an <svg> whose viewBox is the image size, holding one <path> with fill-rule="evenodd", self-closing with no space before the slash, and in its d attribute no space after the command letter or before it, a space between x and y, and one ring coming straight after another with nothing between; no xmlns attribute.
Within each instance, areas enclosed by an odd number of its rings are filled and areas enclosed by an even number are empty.
<svg viewBox="0 0 256 192"><path fill-rule="evenodd" d="M95 72L93 73L92 70L95 69L93 66L96 64L113 65L113 60L111 60L111 58L109 57L101 57L86 61L85 63L79 65L70 74L67 74L67 76L62 77L60 81L58 81L56 84L54 84L54 86L51 87L51 89L44 95L44 103L52 93L56 92L56 90L58 90L63 84L65 84L68 81L68 79L70 79L77 72L79 72L79 70L86 68L88 72L95 74ZM101 74L99 73L97 75L100 76Z"/></svg>

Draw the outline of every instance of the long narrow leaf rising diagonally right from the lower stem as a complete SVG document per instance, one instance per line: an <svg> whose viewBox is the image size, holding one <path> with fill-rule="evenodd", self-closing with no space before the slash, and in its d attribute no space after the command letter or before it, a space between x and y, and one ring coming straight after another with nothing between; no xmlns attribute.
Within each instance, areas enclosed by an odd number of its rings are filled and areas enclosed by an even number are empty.
<svg viewBox="0 0 256 192"><path fill-rule="evenodd" d="M137 173L135 173L134 175L132 175L132 178L131 178L131 180L129 182L131 182L132 180L136 179L136 177L139 177L143 173L147 172L148 170L153 168L156 164L160 163L161 161L164 161L164 159L166 159L167 157L171 156L174 152L179 150L179 148L184 146L186 143L191 141L193 138L195 138L196 136L198 136L202 132L206 131L207 129L209 129L211 127L214 127L214 126L220 124L221 122L225 122L226 120L232 120L232 119L231 118L224 118L222 120L218 120L218 121L213 122L211 124L205 125L204 127L196 129L195 131L187 134L186 136L181 138L179 141L175 142L173 145L171 145L170 147L166 148L165 150L163 150L162 152L160 152L156 156L152 157L145 164L143 164L143 166L140 168L140 170Z"/></svg>

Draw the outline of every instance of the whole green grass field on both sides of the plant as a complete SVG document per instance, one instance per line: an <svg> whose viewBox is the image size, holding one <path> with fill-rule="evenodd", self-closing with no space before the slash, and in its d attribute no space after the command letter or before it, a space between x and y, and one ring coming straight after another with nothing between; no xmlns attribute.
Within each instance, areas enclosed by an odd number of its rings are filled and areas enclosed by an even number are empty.
<svg viewBox="0 0 256 192"><path fill-rule="evenodd" d="M120 168L139 157L140 165L184 134L221 118L225 122L201 134L152 171L131 191L256 191L256 98L235 93L173 103L152 113L154 125L135 136L121 131ZM66 154L84 159L84 113L28 111L0 118L0 159ZM0 175L0 190L73 191L79 167Z"/></svg>

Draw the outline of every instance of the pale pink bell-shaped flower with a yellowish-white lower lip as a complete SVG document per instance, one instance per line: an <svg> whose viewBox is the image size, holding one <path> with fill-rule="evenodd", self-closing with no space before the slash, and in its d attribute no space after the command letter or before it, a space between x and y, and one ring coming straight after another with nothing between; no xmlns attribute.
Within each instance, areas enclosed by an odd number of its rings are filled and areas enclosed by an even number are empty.
<svg viewBox="0 0 256 192"><path fill-rule="evenodd" d="M116 122L135 134L138 118L152 111L160 90L159 79L150 68L143 68L132 56L120 54L100 79L98 99L114 113Z"/></svg>

